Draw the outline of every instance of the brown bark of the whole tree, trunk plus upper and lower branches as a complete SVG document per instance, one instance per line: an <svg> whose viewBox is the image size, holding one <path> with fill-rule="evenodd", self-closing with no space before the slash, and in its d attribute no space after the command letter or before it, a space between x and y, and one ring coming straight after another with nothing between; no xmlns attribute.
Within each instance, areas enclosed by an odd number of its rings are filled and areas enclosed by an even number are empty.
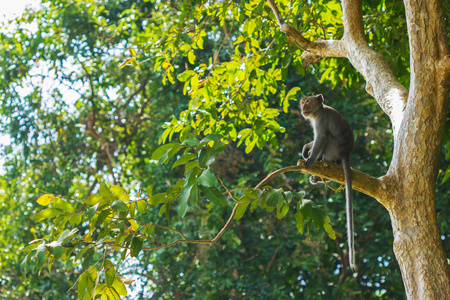
<svg viewBox="0 0 450 300"><path fill-rule="evenodd" d="M368 46L361 0L342 1L342 40L318 42L286 24L274 1L268 0L280 30L305 50L306 64L323 57L346 57L391 119L394 153L388 173L379 179L352 176L354 186L377 199L390 214L394 253L408 299L445 299L450 295L450 278L437 227L435 188L449 101L450 54L441 1L404 2L411 53L409 91L384 57ZM341 180L339 172L320 167L302 171Z"/></svg>

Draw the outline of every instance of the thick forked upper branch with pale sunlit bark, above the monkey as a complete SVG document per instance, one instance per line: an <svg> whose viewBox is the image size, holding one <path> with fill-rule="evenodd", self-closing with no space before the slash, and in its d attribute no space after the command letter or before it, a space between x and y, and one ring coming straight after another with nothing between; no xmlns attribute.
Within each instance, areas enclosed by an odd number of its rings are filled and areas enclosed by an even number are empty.
<svg viewBox="0 0 450 300"><path fill-rule="evenodd" d="M343 0L344 37L342 40L318 40L311 42L294 27L284 22L275 2L267 0L280 31L305 52L304 66L323 57L347 57L366 79L366 89L378 102L392 122L394 138L397 137L403 119L408 90L394 76L383 55L369 47L364 36L361 0Z"/></svg>

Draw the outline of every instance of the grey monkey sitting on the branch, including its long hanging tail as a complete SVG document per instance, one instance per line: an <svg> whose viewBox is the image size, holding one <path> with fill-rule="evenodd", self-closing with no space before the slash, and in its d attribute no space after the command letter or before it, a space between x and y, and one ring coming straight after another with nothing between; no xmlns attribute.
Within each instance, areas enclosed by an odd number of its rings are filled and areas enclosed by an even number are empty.
<svg viewBox="0 0 450 300"><path fill-rule="evenodd" d="M342 165L345 177L349 265L353 271L357 271L353 229L352 178L350 174L353 130L340 113L323 104L323 102L322 94L307 96L300 100L302 115L310 121L314 130L314 141L303 146L302 156L305 159L306 169L309 169L317 160L336 162ZM309 178L309 181L316 184L322 179L313 175Z"/></svg>

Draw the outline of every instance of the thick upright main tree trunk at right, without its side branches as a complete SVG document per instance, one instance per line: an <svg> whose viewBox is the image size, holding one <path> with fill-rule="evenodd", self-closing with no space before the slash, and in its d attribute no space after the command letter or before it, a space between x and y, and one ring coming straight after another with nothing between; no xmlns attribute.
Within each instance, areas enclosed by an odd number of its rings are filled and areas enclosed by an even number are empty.
<svg viewBox="0 0 450 300"><path fill-rule="evenodd" d="M448 107L448 46L440 1L405 0L411 86L387 177L394 252L409 299L450 297L448 265L436 223L435 188ZM448 299L448 298L447 298Z"/></svg>

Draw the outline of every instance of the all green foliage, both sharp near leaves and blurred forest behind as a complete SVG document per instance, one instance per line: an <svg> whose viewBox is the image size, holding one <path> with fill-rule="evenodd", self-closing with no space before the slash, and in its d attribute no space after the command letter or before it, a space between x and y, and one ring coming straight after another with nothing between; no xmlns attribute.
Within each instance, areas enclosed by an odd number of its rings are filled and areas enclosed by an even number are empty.
<svg viewBox="0 0 450 300"><path fill-rule="evenodd" d="M351 61L305 59L269 2L44 0L4 26L0 299L406 297L386 209L354 192L352 274L340 185L296 167L305 95L349 120L352 167L371 176L388 171L395 128ZM337 1L276 5L309 40L344 35ZM362 12L409 88L404 4ZM446 131L447 253L449 146Z"/></svg>

